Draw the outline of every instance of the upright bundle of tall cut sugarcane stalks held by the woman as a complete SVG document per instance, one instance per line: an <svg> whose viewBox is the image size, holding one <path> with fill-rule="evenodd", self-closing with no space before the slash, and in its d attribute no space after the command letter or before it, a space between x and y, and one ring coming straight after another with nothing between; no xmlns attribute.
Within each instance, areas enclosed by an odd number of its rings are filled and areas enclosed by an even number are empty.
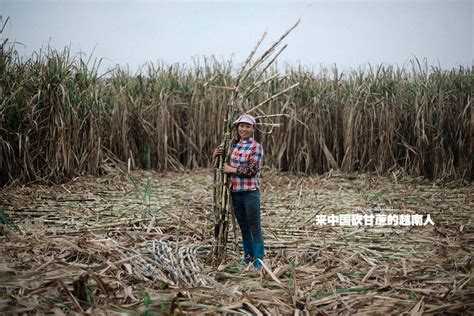
<svg viewBox="0 0 474 316"><path fill-rule="evenodd" d="M214 245L213 245L213 262L218 264L221 262L225 257L225 250L227 245L227 236L228 236L228 229L229 229L229 209L231 205L230 200L230 193L229 193L229 175L225 174L222 171L224 163L228 163L230 159L230 154L232 152L232 127L233 122L237 118L238 115L244 113L259 113L256 117L260 121L269 118L278 117L278 116L285 116L286 114L271 114L267 115L261 107L268 102L274 100L275 98L283 95L284 93L288 92L292 88L298 85L294 84L291 85L282 91L279 91L264 101L260 102L259 104L249 107L249 98L251 95L258 91L260 87L263 85L277 79L285 79L286 76L282 76L280 74L276 74L270 77L265 77L267 70L270 68L272 64L274 64L276 58L283 52L283 50L287 47L285 44L283 47L279 47L283 40L288 36L288 34L296 28L299 24L299 20L289 29L287 30L273 45L268 48L259 58L252 62L252 58L254 57L257 49L260 47L260 44L264 40L266 36L266 32L262 35L260 40L258 41L255 48L252 50L250 55L247 57L244 65L242 66L240 72L238 73L235 82L230 87L218 87L224 88L231 91L231 96L229 102L226 107L226 114L224 117L224 127L222 133L222 142L221 145L224 148L224 155L221 155L217 158L215 162L215 170L214 170L214 216L215 216L215 226L214 226ZM255 74L253 76L253 74ZM212 79L211 79L212 80ZM278 126L273 122L270 123L257 123L263 126L269 126L273 128L274 126ZM271 132L271 131L270 131Z"/></svg>

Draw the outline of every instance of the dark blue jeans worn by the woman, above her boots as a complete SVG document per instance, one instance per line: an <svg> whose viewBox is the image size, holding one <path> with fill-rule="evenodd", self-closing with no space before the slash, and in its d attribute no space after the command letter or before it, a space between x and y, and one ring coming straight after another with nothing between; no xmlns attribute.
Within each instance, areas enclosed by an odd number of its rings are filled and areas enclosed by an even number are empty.
<svg viewBox="0 0 474 316"><path fill-rule="evenodd" d="M260 192L258 190L231 192L231 195L242 239L263 244L260 224Z"/></svg>

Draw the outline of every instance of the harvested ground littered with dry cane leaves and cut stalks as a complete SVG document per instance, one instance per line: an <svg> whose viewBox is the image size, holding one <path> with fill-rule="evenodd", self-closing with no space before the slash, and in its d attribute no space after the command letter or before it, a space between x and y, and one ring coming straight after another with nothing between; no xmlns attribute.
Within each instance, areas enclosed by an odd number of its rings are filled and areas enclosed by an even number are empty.
<svg viewBox="0 0 474 316"><path fill-rule="evenodd" d="M234 232L226 262L209 263L212 170L0 189L0 311L474 313L472 185L272 171L263 183L263 271L240 263Z"/></svg>

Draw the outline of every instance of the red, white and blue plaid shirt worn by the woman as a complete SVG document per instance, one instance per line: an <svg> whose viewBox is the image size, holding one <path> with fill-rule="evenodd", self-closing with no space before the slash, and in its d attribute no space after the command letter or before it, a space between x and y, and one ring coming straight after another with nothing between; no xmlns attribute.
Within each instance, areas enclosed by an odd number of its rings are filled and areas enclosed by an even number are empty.
<svg viewBox="0 0 474 316"><path fill-rule="evenodd" d="M237 171L230 177L230 190L253 191L260 186L260 166L262 164L262 145L253 138L240 140L233 145L230 166Z"/></svg>

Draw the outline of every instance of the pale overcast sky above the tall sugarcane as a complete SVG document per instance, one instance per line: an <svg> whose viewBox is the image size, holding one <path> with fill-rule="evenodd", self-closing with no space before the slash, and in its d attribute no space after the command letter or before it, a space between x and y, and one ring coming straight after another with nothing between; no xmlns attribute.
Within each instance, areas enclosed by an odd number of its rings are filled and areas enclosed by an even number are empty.
<svg viewBox="0 0 474 316"><path fill-rule="evenodd" d="M404 65L414 56L450 69L474 61L474 0L414 1L22 1L0 0L1 38L31 55L48 43L104 58L107 67L147 61L192 64L214 55L242 62L297 19L279 64L357 68Z"/></svg>

